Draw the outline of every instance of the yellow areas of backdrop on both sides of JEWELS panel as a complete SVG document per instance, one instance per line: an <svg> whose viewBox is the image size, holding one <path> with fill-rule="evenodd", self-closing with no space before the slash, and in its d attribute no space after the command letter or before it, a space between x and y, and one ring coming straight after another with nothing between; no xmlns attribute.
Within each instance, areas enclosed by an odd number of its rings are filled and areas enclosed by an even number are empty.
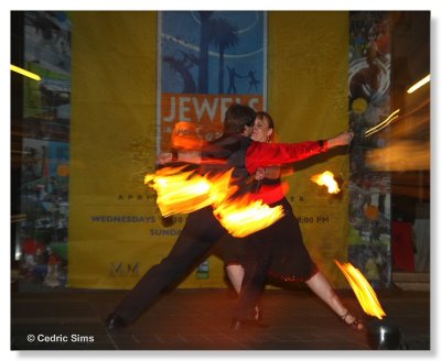
<svg viewBox="0 0 441 361"><path fill-rule="evenodd" d="M131 288L185 221L165 227L143 185L155 166L157 12L72 12L72 21L68 286ZM347 12L269 12L268 26L268 110L281 140L345 130ZM314 158L290 179L305 243L332 281L334 258L346 260L347 192L329 197L309 178L344 160ZM222 262L207 262L181 287L225 286Z"/></svg>

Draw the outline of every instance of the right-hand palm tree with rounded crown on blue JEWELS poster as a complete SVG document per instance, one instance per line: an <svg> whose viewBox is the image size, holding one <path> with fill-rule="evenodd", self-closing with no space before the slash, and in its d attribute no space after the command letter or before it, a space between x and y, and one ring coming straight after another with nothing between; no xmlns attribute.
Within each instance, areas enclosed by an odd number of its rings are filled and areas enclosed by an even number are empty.
<svg viewBox="0 0 441 361"><path fill-rule="evenodd" d="M209 22L209 40L218 47L219 52L219 94L224 92L224 54L225 50L239 42L238 28L232 25L226 19L217 18Z"/></svg>

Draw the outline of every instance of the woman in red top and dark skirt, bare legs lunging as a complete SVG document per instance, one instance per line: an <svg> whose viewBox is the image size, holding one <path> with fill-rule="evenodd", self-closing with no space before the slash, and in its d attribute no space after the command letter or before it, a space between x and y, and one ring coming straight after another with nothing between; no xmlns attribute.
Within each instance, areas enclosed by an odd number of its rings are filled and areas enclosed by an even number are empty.
<svg viewBox="0 0 441 361"><path fill-rule="evenodd" d="M275 124L271 116L259 111L251 133L257 142L271 143ZM291 168L292 171L292 168ZM257 193L252 198L262 199L270 207L282 205L286 216L267 229L247 239L234 239L228 236L215 245L214 253L224 260L228 277L239 294L244 278L244 267L256 266L262 274L284 282L304 282L347 325L356 330L364 328L359 319L344 307L326 276L318 269L303 243L299 221L292 207L284 197L281 184L281 167L259 168L257 172ZM261 318L260 307L256 306L256 320ZM241 327L238 324L236 327Z"/></svg>

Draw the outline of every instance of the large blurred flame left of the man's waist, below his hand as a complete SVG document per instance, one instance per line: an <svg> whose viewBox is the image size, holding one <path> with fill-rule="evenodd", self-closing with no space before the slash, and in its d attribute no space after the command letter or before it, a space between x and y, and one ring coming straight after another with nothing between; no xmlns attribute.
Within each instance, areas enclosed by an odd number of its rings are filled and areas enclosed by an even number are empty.
<svg viewBox="0 0 441 361"><path fill-rule="evenodd" d="M195 171L182 167L164 167L154 174L148 174L144 184L158 195L157 203L164 217L176 214L190 214L197 209L222 203L233 189L228 188L232 171L208 178Z"/></svg>

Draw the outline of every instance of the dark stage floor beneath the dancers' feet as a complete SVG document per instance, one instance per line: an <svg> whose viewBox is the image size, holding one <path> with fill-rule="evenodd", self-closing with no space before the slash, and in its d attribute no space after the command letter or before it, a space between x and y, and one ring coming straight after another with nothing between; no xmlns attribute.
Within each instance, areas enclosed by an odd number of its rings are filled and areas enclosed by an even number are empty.
<svg viewBox="0 0 441 361"><path fill-rule="evenodd" d="M109 332L104 320L126 292L13 292L12 350L370 350L364 331L345 326L309 291L266 291L263 324L233 331L227 289L176 289L133 325ZM363 310L351 291L344 303ZM430 350L430 294L378 293L409 350ZM40 341L39 341L40 340Z"/></svg>

